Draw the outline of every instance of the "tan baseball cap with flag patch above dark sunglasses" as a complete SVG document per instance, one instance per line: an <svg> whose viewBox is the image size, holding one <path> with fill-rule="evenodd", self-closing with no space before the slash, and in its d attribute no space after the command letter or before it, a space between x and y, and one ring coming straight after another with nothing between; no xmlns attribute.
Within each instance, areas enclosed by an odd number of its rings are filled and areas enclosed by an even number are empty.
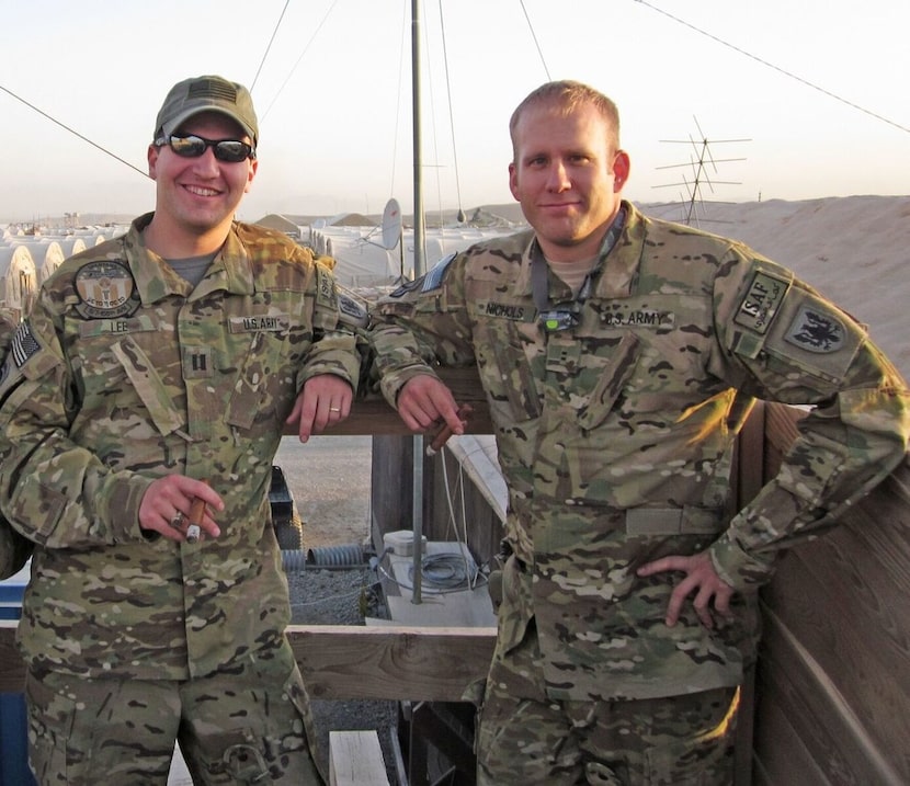
<svg viewBox="0 0 910 786"><path fill-rule="evenodd" d="M174 84L155 121L153 137L170 136L200 112L220 112L240 124L253 147L259 143L259 123L250 91L224 77L206 76L184 79Z"/></svg>

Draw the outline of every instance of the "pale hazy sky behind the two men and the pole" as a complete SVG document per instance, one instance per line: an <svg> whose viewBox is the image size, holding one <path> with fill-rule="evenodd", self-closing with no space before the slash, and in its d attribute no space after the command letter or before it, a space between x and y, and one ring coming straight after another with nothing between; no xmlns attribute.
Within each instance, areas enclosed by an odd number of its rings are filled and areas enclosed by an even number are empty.
<svg viewBox="0 0 910 786"><path fill-rule="evenodd" d="M241 219L380 213L391 196L410 212L410 13L411 0L0 0L0 221L151 209L155 116L202 73L257 104ZM512 202L509 116L564 78L618 104L635 201L687 201L703 139L705 201L910 193L907 0L426 0L419 27L428 212Z"/></svg>

